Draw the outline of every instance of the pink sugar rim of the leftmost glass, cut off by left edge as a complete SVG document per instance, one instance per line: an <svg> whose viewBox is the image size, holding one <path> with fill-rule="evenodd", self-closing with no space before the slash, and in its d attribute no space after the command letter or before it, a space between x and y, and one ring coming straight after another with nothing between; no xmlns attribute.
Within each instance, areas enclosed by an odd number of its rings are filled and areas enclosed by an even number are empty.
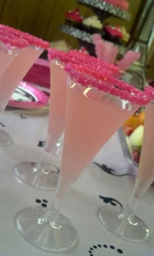
<svg viewBox="0 0 154 256"><path fill-rule="evenodd" d="M24 39L19 39L18 37L8 37L8 35L0 35L0 41L6 45L11 45L12 47L23 48L27 47L28 43Z"/></svg>

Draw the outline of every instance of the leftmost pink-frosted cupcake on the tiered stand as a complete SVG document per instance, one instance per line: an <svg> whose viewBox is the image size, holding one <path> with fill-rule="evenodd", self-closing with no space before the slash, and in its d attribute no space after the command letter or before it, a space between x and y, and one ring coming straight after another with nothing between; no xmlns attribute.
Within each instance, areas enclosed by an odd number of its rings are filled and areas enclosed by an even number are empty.
<svg viewBox="0 0 154 256"><path fill-rule="evenodd" d="M73 26L74 28L80 28L80 24L82 24L83 21L83 16L80 14L78 8L74 9L73 11L66 12L65 18L65 24Z"/></svg>

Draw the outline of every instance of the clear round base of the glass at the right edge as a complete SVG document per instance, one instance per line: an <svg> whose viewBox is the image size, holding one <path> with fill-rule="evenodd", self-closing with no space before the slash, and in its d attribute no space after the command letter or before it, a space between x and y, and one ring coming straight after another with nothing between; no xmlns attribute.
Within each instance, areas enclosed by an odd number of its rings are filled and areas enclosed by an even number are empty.
<svg viewBox="0 0 154 256"><path fill-rule="evenodd" d="M120 207L104 206L97 214L104 228L127 242L142 243L149 239L150 232L146 224L136 215L124 217Z"/></svg>

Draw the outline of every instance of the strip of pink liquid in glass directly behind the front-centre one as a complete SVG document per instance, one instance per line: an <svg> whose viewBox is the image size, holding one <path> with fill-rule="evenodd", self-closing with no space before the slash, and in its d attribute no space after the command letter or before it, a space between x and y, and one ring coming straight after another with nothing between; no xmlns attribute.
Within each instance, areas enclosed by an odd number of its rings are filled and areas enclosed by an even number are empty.
<svg viewBox="0 0 154 256"><path fill-rule="evenodd" d="M46 151L50 152L65 126L67 74L60 65L50 63L50 114Z"/></svg>

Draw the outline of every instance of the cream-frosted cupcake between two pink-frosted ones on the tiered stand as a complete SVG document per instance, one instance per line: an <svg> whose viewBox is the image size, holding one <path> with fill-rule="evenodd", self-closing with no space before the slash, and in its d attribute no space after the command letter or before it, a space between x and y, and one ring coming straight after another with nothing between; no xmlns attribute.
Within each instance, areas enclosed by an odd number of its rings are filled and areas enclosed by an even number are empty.
<svg viewBox="0 0 154 256"><path fill-rule="evenodd" d="M96 15L84 18L82 28L89 33L102 33L102 23Z"/></svg>

